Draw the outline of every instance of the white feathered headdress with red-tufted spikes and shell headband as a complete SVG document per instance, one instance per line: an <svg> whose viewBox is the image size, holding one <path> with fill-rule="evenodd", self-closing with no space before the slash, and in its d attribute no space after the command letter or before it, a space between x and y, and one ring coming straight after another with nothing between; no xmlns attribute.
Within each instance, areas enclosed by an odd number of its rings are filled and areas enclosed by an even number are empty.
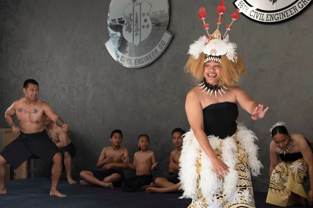
<svg viewBox="0 0 313 208"><path fill-rule="evenodd" d="M207 36L199 37L197 41L189 46L188 54L192 55L194 59L198 59L200 54L203 52L206 54L205 62L208 61L216 61L220 62L220 58L222 55L226 54L228 60L237 62L237 53L236 48L237 45L235 43L229 42L229 37L227 32L233 27L232 24L234 21L239 19L239 9L235 13L232 13L232 22L229 25L226 25L225 34L221 35L218 30L219 25L222 23L223 19L221 18L226 10L224 7L224 1L221 1L221 4L217 7L218 9L218 19L216 19L217 29L213 34L209 34L209 24L205 23L205 19L207 17L207 13L205 12L205 8L201 7L199 9L199 18L203 22L203 28L207 31Z"/></svg>

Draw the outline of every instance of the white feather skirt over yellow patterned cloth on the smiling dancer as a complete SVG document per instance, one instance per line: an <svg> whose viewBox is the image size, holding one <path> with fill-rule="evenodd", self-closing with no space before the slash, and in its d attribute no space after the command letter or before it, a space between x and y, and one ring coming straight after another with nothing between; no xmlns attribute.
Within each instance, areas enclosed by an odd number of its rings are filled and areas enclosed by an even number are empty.
<svg viewBox="0 0 313 208"><path fill-rule="evenodd" d="M231 207L240 203L254 207L251 174L258 176L263 168L258 160L258 147L254 144L257 137L243 124L239 124L237 130L237 135L224 139L208 136L218 158L230 167L230 172L224 177L216 176L210 159L202 151L192 129L184 135L178 175L183 190L180 198L192 198L193 205L190 207L210 207L215 202L213 207ZM242 186L243 183L247 186Z"/></svg>

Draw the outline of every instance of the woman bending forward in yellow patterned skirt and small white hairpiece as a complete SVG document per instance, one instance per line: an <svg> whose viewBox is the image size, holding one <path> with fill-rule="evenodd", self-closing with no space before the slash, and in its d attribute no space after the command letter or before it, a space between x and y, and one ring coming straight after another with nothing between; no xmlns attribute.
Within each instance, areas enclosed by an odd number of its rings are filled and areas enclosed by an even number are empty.
<svg viewBox="0 0 313 208"><path fill-rule="evenodd" d="M270 183L266 202L278 206L292 206L297 202L306 206L307 198L312 205L313 154L310 142L302 134L289 134L284 122L277 122L269 131L273 141L269 145ZM306 195L302 185L308 177L310 191Z"/></svg>

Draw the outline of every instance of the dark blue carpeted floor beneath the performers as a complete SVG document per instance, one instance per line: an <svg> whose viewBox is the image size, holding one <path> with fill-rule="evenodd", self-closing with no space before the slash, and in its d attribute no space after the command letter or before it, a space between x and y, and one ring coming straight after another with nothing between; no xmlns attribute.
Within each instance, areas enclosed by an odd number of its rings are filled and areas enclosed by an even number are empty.
<svg viewBox="0 0 313 208"><path fill-rule="evenodd" d="M79 181L79 176L74 176ZM154 208L187 207L190 199L178 199L180 193L147 194L144 191L133 193L121 191L121 187L107 189L95 186L70 185L65 177L58 184L58 190L67 195L65 198L49 196L51 181L46 177L36 177L6 181L7 194L0 195L0 208L7 207L101 207L101 208ZM254 191L256 207L273 208L278 206L265 203L266 192ZM302 207L302 206L291 206Z"/></svg>

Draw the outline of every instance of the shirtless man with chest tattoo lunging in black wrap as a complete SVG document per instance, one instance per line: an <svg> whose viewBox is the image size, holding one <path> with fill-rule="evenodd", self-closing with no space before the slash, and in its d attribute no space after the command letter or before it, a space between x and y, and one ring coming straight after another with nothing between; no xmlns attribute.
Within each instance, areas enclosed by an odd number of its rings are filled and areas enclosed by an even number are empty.
<svg viewBox="0 0 313 208"><path fill-rule="evenodd" d="M44 121L46 117L54 121L63 131L69 130L69 125L52 110L48 103L38 99L38 82L28 79L24 82L25 97L13 102L5 112L5 118L12 127L13 133L20 135L0 152L0 194L6 194L5 164L18 168L31 155L37 155L47 162L53 161L51 196L65 197L57 191L57 184L62 171L62 155L59 148L49 139ZM16 114L19 126L15 126L13 116ZM16 154L16 153L19 154Z"/></svg>

